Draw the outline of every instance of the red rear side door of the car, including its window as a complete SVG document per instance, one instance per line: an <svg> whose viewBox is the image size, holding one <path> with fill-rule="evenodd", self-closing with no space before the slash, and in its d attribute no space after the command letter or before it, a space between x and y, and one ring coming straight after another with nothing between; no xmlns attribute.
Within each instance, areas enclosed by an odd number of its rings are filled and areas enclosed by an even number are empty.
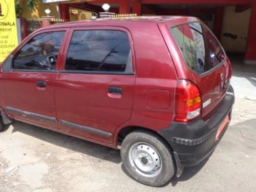
<svg viewBox="0 0 256 192"><path fill-rule="evenodd" d="M55 82L59 127L113 142L115 129L130 119L135 84L129 31L84 27L71 31Z"/></svg>

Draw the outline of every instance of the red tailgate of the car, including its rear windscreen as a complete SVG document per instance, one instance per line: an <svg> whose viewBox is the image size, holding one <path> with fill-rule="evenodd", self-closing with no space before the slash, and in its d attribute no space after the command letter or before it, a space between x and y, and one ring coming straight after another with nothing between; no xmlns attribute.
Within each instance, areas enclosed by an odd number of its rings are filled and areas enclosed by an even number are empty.
<svg viewBox="0 0 256 192"><path fill-rule="evenodd" d="M202 117L215 113L229 86L231 66L222 46L202 23L193 22L171 29L183 56L183 75L199 87Z"/></svg>

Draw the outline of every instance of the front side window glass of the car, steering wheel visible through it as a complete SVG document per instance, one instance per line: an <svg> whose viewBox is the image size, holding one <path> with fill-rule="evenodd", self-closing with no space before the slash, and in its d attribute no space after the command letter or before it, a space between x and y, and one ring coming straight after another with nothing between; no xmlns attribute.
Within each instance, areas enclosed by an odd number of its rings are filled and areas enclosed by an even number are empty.
<svg viewBox="0 0 256 192"><path fill-rule="evenodd" d="M54 70L65 31L34 36L14 56L12 69Z"/></svg>

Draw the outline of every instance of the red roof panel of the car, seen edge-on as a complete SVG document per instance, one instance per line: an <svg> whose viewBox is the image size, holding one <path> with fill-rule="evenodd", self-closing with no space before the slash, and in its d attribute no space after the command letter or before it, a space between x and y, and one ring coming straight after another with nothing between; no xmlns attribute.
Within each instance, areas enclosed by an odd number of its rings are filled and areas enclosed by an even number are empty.
<svg viewBox="0 0 256 192"><path fill-rule="evenodd" d="M198 22L197 17L189 16L129 16L129 17L110 17L110 18L99 18L95 20L78 20L75 22L60 23L56 25L51 25L42 29L52 29L52 28L66 28L66 27L78 27L78 26L88 26L88 25L115 25L122 26L123 24L133 24L133 23L168 23L169 25L178 25L187 22Z"/></svg>

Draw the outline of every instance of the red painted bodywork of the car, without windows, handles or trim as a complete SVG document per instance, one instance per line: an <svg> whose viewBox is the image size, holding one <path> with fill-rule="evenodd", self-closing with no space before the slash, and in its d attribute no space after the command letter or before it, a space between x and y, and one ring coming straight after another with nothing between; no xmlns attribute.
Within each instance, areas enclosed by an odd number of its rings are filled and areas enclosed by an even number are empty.
<svg viewBox="0 0 256 192"><path fill-rule="evenodd" d="M11 54L15 56L37 34L66 31L57 57L56 71L4 72L1 69L1 108L16 120L116 148L118 134L125 127L144 127L157 132L170 126L175 115L177 82L187 79L199 88L202 103L211 99L206 108L201 108L202 118L207 119L218 109L225 95L226 90L220 86L221 78L230 79L231 65L226 58L221 65L204 75L190 70L169 30L172 26L188 22L199 20L177 16L106 19L39 29ZM73 31L96 29L120 30L128 35L133 74L63 73ZM36 81L45 81L47 87L38 88ZM109 87L122 88L122 95L108 93ZM6 111L7 106L52 117L56 121L38 120L26 114ZM92 127L111 136L76 129L60 120Z"/></svg>

